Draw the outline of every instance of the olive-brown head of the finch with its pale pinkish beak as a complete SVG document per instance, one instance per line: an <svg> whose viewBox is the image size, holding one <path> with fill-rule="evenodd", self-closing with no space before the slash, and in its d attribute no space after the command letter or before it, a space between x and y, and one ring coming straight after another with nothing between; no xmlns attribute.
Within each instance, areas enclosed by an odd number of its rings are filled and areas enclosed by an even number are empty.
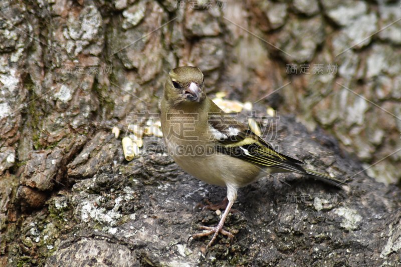
<svg viewBox="0 0 401 267"><path fill-rule="evenodd" d="M164 97L173 105L202 102L206 98L204 75L196 67L172 69L165 83Z"/></svg>

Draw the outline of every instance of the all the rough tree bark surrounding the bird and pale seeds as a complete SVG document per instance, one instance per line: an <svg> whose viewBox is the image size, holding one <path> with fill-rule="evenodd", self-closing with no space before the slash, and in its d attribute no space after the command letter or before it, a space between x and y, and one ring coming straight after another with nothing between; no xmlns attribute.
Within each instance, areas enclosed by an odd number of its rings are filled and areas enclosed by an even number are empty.
<svg viewBox="0 0 401 267"><path fill-rule="evenodd" d="M401 178L398 1L4 0L0 13L0 265L399 264L400 190L377 182ZM270 141L350 188L262 179L228 218L235 240L203 256L207 239L186 240L218 215L192 206L225 190L157 138L128 163L111 134L157 114L168 70L188 64L210 95L277 110ZM361 171L376 162L374 180Z"/></svg>

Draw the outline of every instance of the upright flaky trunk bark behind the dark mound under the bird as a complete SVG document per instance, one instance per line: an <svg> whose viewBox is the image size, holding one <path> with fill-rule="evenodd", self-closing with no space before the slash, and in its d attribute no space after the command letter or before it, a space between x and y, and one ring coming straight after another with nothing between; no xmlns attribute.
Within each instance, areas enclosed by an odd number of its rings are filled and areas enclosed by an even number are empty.
<svg viewBox="0 0 401 267"><path fill-rule="evenodd" d="M199 67L211 96L325 129L377 181L401 178L399 1L3 0L0 12L2 256L21 210L122 162L106 132L157 113L177 66Z"/></svg>

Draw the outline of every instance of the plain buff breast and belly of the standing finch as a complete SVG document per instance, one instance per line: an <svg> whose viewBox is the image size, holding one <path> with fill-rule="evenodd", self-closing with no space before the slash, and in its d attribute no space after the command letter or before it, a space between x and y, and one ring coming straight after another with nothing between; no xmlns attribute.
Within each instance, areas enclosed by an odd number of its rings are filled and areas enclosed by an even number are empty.
<svg viewBox="0 0 401 267"><path fill-rule="evenodd" d="M243 187L261 173L253 163L216 151L208 122L188 115L161 114L169 155L187 173L206 183ZM204 125L203 123L206 123Z"/></svg>

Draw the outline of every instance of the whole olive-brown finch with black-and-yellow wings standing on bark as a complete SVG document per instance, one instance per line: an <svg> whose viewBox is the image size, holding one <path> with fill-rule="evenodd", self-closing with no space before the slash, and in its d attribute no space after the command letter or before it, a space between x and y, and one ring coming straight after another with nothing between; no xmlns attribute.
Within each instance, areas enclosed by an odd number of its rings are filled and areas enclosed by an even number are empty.
<svg viewBox="0 0 401 267"><path fill-rule="evenodd" d="M200 226L191 237L218 234L233 239L224 223L238 189L266 174L295 172L339 186L341 180L302 167L302 161L277 152L272 145L220 109L207 95L202 71L172 69L164 84L160 122L168 154L187 173L206 183L227 187L227 206L216 226Z"/></svg>

